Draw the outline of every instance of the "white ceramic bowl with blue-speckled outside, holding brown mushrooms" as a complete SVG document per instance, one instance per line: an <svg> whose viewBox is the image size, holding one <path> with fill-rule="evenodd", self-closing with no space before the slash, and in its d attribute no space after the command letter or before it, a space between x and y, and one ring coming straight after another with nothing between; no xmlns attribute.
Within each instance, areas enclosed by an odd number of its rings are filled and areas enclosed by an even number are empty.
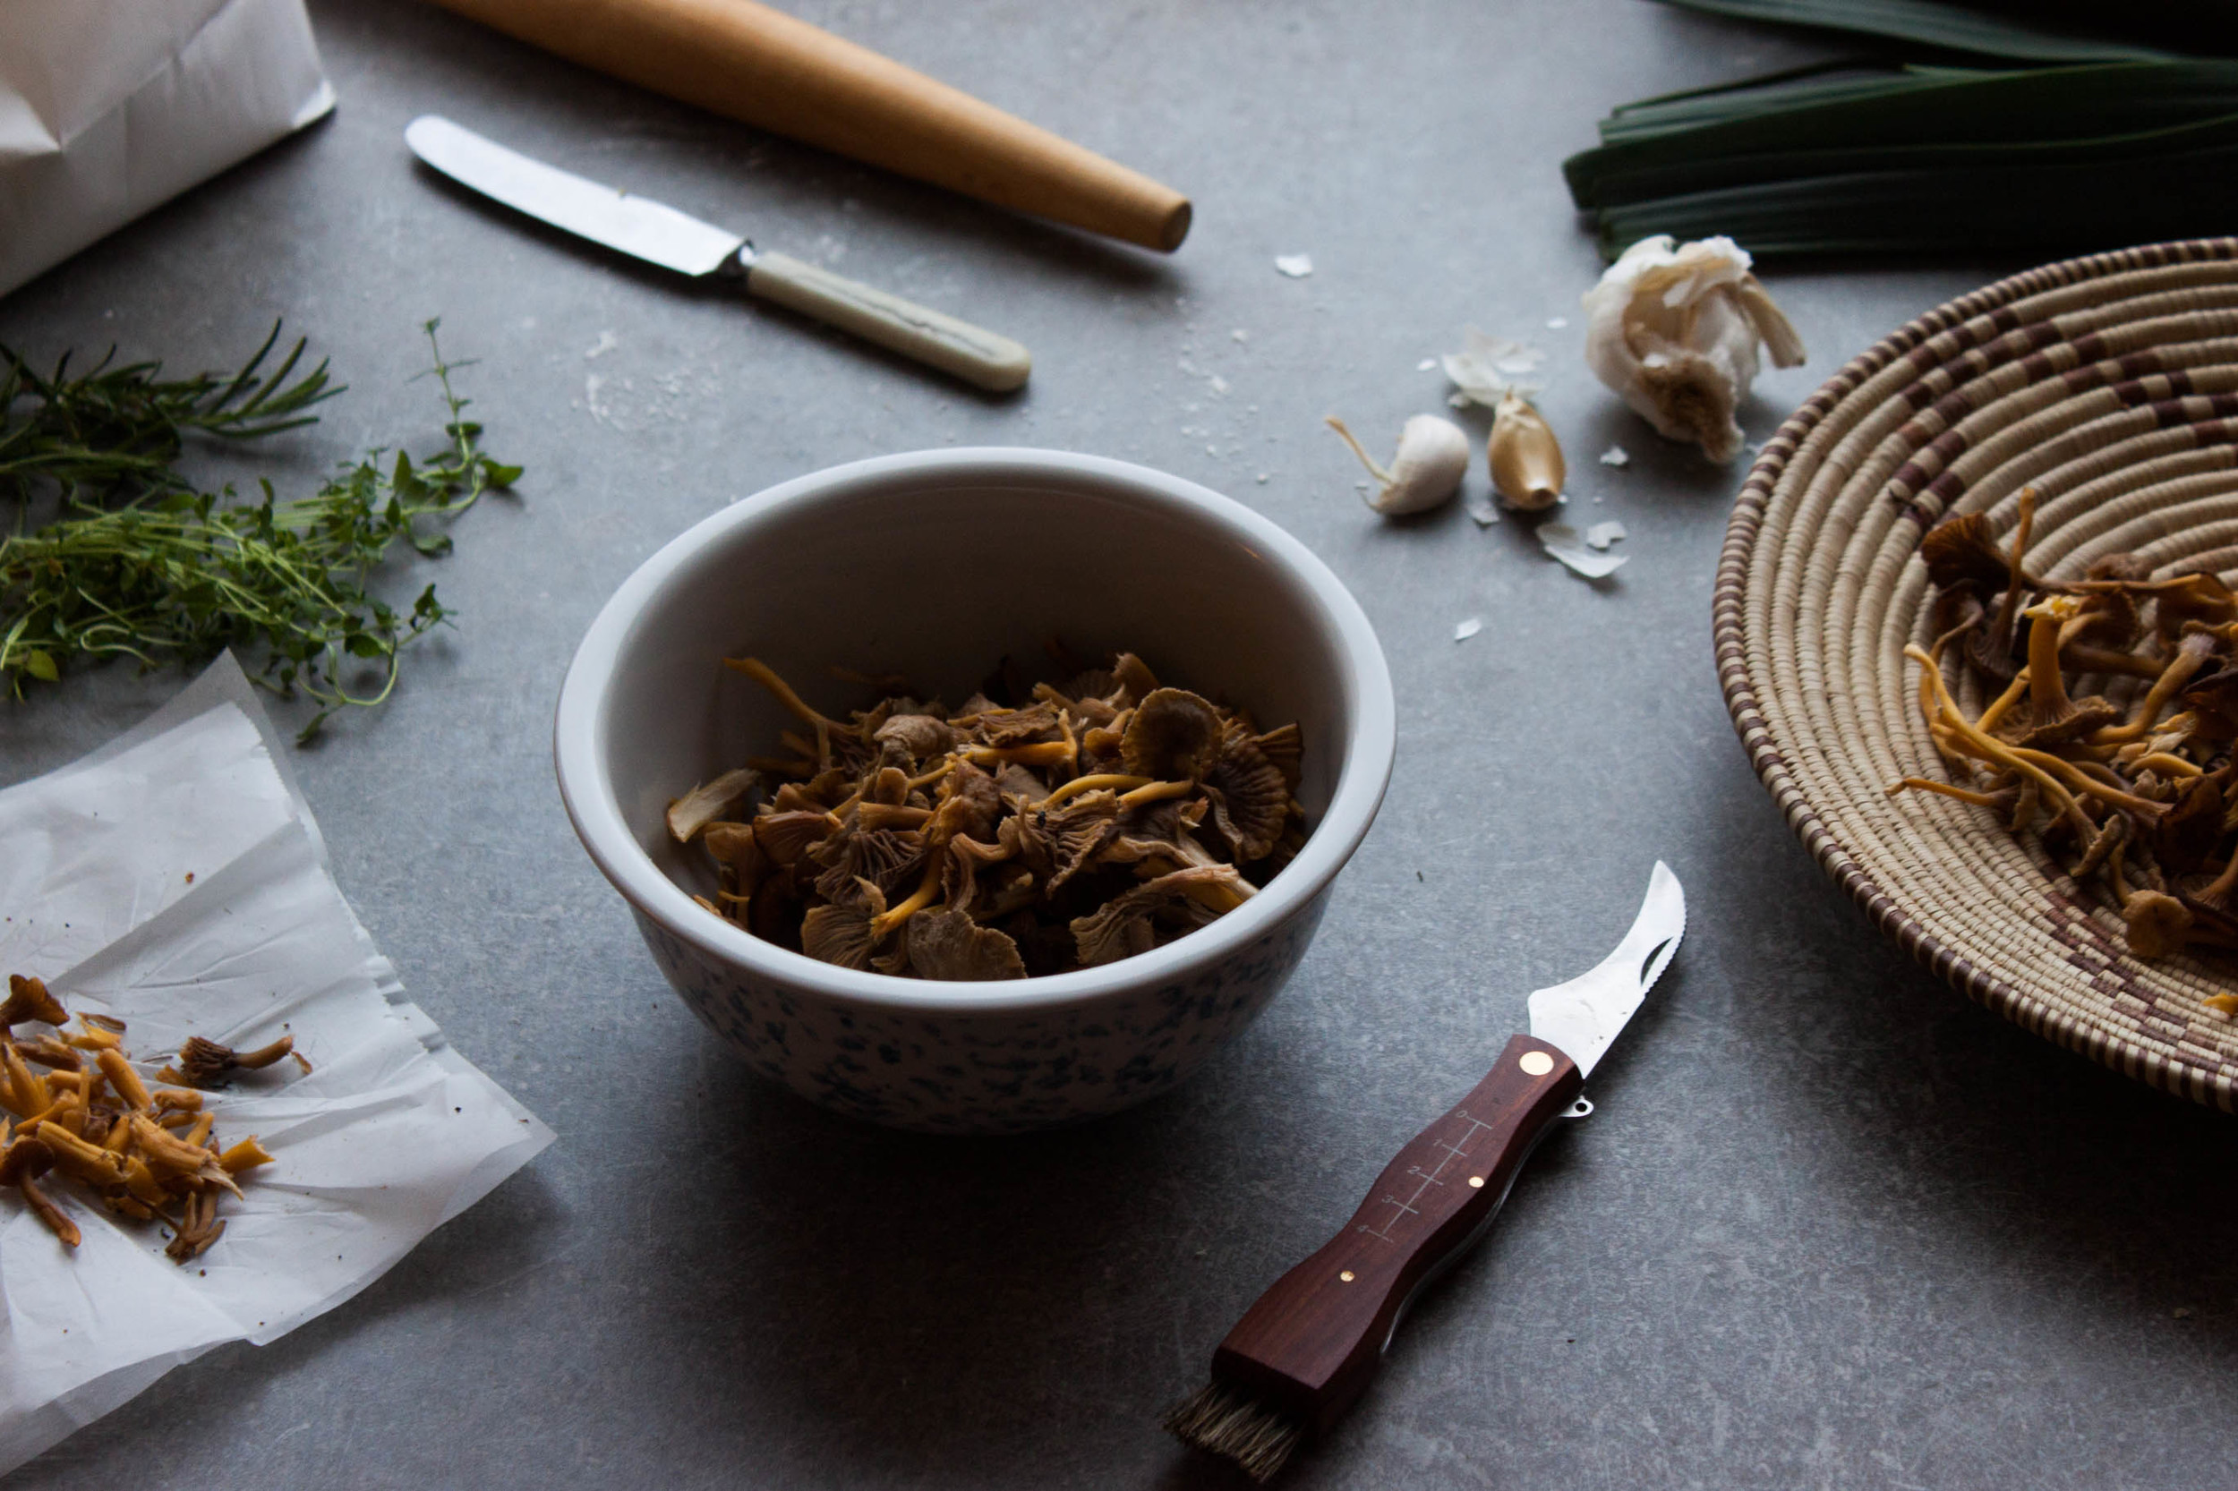
<svg viewBox="0 0 2238 1491"><path fill-rule="evenodd" d="M721 667L754 654L828 712L833 667L960 703L1005 651L1130 649L1166 683L1298 721L1311 828L1256 898L1155 951L1009 983L888 978L692 902L671 797L790 723ZM1193 481L1056 450L922 450L812 472L633 573L560 690L560 795L660 972L754 1070L880 1124L1007 1133L1164 1093L1276 994L1392 768L1392 685L1358 602L1298 540Z"/></svg>

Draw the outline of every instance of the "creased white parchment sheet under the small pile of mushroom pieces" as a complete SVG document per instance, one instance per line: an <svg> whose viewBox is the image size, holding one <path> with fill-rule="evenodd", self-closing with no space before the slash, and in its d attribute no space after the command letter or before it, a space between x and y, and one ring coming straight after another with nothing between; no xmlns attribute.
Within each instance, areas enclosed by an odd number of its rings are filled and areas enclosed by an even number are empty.
<svg viewBox="0 0 2238 1491"><path fill-rule="evenodd" d="M403 1001L282 750L226 656L139 730L0 790L0 972L125 1021L148 1077L188 1034L293 1034L313 1068L210 1097L219 1140L275 1162L184 1269L69 1182L74 1254L0 1195L0 1473L213 1345L340 1305L553 1140Z"/></svg>

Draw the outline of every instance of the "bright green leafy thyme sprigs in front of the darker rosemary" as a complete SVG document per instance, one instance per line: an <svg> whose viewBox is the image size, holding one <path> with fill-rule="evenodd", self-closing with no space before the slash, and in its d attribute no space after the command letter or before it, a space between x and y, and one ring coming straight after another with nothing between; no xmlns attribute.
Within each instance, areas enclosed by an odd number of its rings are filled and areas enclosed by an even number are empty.
<svg viewBox="0 0 2238 1491"><path fill-rule="evenodd" d="M387 698L398 651L450 611L432 584L398 611L367 582L398 542L448 553L450 535L432 519L454 519L521 475L483 454L481 425L463 419L470 401L452 390L459 365L443 360L436 325L425 331L450 414L448 443L419 463L372 450L295 501L278 501L271 481L257 484L262 501L235 501L233 488L195 493L168 463L159 472L96 468L145 484L143 495L112 508L85 495L90 479L69 475L78 466L43 466L45 479L67 484L72 515L0 537L0 678L20 696L27 676L54 683L69 658L128 656L159 667L192 665L224 647L262 651L260 683L280 694L300 690L320 705L298 739L311 739L345 705ZM168 419L179 430L231 437L304 423L302 410L327 387L325 365L286 385L298 354L260 383L246 383L251 363L233 383L166 394ZM354 665L374 669L374 687L349 687L342 674Z"/></svg>

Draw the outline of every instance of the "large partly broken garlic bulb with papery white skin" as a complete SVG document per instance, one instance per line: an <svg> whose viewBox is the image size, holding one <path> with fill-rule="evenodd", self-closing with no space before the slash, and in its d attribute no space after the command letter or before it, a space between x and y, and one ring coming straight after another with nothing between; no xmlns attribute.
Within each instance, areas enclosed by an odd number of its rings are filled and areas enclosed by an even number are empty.
<svg viewBox="0 0 2238 1491"><path fill-rule="evenodd" d="M1748 273L1730 237L1674 248L1643 237L1585 293L1585 363L1658 432L1694 441L1712 461L1741 452L1732 410L1757 376L1757 343L1775 367L1804 360L1804 343Z"/></svg>

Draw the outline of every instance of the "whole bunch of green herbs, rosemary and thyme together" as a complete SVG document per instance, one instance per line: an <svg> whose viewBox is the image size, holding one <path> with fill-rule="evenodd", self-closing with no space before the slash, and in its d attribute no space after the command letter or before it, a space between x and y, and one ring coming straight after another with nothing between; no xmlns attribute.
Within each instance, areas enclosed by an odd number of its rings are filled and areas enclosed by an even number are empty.
<svg viewBox="0 0 2238 1491"><path fill-rule="evenodd" d="M231 381L157 383L154 365L67 378L29 374L22 358L0 372L0 499L60 493L65 517L0 537L0 678L54 683L72 658L130 656L145 667L201 663L224 647L262 654L260 681L302 692L320 710L309 739L336 710L376 705L396 687L398 654L450 616L430 584L412 611L367 582L398 540L419 553L450 551L450 522L519 468L499 466L461 419L466 401L427 322L450 443L421 461L367 452L318 493L280 501L260 481L255 501L195 493L172 470L186 430L248 439L307 423L300 414L338 390L327 365L289 383L302 343L271 374L257 367L266 338ZM27 405L18 414L18 405ZM78 419L105 412L110 425ZM13 466L9 466L13 452ZM123 454L119 454L123 452ZM387 470L383 470L387 466ZM356 663L351 663L351 658ZM372 665L372 678L356 683ZM347 676L345 674L354 674Z"/></svg>

